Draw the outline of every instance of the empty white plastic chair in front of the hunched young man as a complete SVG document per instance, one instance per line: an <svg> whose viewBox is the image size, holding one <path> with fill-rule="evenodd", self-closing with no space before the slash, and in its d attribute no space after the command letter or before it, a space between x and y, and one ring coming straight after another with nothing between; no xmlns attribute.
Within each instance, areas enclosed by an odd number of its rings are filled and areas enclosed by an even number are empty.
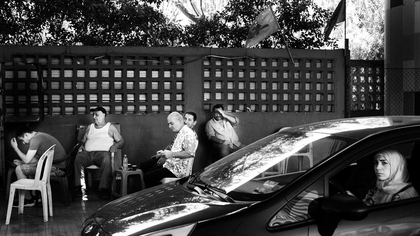
<svg viewBox="0 0 420 236"><path fill-rule="evenodd" d="M7 208L6 225L10 222L10 216L12 214L13 198L15 196L15 190L19 189L19 214L24 213L24 190L39 190L42 196L42 208L44 210L44 222L48 221L48 207L50 210L50 216L53 216L53 200L51 198L51 186L50 186L50 171L53 163L54 147L45 151L39 158L37 171L35 173L35 179L19 179L13 182L10 187L9 204ZM45 161L45 165L43 165ZM44 168L42 168L44 166ZM43 172L41 178L41 172Z"/></svg>

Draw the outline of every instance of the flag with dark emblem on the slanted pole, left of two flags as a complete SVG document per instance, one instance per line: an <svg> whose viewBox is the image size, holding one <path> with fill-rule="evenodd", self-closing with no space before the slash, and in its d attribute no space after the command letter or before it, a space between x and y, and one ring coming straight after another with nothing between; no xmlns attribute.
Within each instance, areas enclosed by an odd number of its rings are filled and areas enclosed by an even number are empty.
<svg viewBox="0 0 420 236"><path fill-rule="evenodd" d="M252 23L247 40L245 41L245 47L252 47L257 42L265 39L279 29L280 27L278 26L276 16L274 15L271 6L268 6Z"/></svg>

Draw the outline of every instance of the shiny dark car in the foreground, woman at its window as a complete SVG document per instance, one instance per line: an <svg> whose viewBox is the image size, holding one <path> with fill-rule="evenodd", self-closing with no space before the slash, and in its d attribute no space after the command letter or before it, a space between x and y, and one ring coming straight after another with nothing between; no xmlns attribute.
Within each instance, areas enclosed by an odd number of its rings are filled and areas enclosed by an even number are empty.
<svg viewBox="0 0 420 236"><path fill-rule="evenodd" d="M419 235L420 197L367 206L373 156L398 150L420 192L420 117L282 130L175 182L108 203L81 236Z"/></svg>

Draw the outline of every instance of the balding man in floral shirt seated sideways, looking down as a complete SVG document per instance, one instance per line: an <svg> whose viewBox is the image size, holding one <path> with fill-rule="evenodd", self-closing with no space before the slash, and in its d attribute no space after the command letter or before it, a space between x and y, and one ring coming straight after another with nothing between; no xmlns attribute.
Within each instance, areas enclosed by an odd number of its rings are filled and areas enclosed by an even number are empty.
<svg viewBox="0 0 420 236"><path fill-rule="evenodd" d="M184 124L184 118L178 112L168 116L169 128L176 132L170 150L157 151L157 165L147 166L141 163L140 169L144 172L144 183L147 187L159 185L163 178L181 178L189 175L194 161L198 140L194 131ZM150 163L150 162L149 162Z"/></svg>

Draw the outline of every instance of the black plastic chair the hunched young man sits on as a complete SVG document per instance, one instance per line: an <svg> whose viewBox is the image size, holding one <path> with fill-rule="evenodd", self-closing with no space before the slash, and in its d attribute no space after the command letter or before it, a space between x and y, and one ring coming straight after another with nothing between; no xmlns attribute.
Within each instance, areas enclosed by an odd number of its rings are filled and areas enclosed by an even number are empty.
<svg viewBox="0 0 420 236"><path fill-rule="evenodd" d="M69 184L68 182L71 180L74 181L74 178L71 178L69 176L71 176L74 170L74 159L76 158L77 150L79 150L80 145L81 145L81 142L76 144L76 146L74 146L74 148L72 148L71 151L66 156L66 158L68 158L66 174L63 176L50 176L50 180L55 180L60 183L61 190L63 192L63 196L65 197L67 207L70 206L70 200L69 200L70 195L71 195L71 199L74 201L74 191L70 191L70 188L69 188L69 185L73 186L74 184Z"/></svg>

